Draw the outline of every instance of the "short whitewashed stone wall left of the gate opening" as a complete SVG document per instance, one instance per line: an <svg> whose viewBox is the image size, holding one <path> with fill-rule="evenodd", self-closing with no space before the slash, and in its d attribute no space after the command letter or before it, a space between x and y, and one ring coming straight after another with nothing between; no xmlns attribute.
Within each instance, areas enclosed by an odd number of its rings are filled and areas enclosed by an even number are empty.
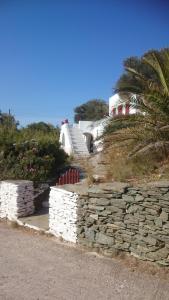
<svg viewBox="0 0 169 300"><path fill-rule="evenodd" d="M8 180L0 182L0 218L16 220L34 213L33 182Z"/></svg>

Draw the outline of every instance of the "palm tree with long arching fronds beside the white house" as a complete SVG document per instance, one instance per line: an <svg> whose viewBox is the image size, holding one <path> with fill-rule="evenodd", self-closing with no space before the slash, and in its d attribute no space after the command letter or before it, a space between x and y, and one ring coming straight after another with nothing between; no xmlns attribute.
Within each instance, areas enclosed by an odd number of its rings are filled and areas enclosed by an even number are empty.
<svg viewBox="0 0 169 300"><path fill-rule="evenodd" d="M105 132L114 142L130 144L130 155L152 150L169 153L169 48L149 51L124 62L115 91L140 114L111 120ZM135 101L132 97L135 95Z"/></svg>

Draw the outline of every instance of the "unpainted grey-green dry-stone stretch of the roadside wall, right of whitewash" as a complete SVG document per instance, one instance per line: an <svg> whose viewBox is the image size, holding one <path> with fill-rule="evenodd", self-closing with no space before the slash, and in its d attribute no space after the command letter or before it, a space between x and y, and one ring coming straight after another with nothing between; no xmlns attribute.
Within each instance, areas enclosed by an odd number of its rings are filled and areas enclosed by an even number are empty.
<svg viewBox="0 0 169 300"><path fill-rule="evenodd" d="M64 188L78 197L79 244L109 256L121 250L169 265L169 182Z"/></svg>

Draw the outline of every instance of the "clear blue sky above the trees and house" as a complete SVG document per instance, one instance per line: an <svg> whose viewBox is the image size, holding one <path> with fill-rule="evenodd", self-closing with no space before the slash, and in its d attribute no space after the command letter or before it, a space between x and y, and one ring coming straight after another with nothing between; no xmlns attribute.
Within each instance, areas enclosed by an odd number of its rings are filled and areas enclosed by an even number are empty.
<svg viewBox="0 0 169 300"><path fill-rule="evenodd" d="M54 125L108 101L130 56L169 46L168 0L0 0L0 109Z"/></svg>

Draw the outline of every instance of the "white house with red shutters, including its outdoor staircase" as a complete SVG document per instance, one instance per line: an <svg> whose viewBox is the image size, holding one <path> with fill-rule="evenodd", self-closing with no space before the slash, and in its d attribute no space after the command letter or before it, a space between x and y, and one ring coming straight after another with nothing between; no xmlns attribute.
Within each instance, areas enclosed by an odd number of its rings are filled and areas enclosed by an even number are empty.
<svg viewBox="0 0 169 300"><path fill-rule="evenodd" d="M102 135L109 118L121 114L133 114L136 109L123 103L118 94L109 98L109 116L99 121L79 121L69 124L65 120L61 126L60 143L68 155L88 156L102 150Z"/></svg>

